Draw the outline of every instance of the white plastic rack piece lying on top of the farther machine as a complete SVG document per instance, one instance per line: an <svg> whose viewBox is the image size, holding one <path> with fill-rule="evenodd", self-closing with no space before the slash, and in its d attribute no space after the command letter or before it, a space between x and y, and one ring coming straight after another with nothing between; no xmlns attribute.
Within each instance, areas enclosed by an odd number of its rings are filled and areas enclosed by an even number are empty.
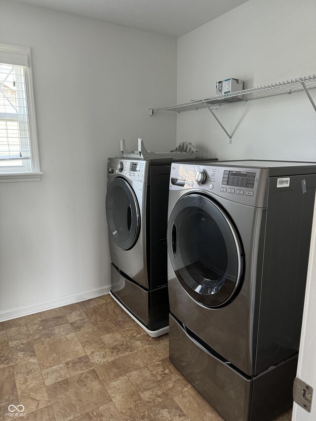
<svg viewBox="0 0 316 421"><path fill-rule="evenodd" d="M191 142L181 142L175 149L170 152L150 152L145 148L143 139L138 138L138 151L127 151L125 139L120 141L120 151L124 158L138 159L177 159L181 157L197 158L199 150L192 145Z"/></svg>

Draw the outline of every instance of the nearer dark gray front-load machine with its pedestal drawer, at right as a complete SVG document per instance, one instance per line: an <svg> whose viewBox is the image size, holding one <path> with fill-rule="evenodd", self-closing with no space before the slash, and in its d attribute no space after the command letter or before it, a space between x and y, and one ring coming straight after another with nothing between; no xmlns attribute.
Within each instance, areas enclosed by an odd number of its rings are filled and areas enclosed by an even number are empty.
<svg viewBox="0 0 316 421"><path fill-rule="evenodd" d="M227 421L293 403L315 189L316 163L172 164L170 359Z"/></svg>

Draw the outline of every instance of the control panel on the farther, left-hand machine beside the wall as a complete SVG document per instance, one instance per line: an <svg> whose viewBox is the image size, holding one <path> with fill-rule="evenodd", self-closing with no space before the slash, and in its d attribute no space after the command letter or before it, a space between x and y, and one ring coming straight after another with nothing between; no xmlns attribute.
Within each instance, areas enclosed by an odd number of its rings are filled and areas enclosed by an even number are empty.
<svg viewBox="0 0 316 421"><path fill-rule="evenodd" d="M133 181L147 183L148 163L141 159L109 158L108 177L124 176Z"/></svg>

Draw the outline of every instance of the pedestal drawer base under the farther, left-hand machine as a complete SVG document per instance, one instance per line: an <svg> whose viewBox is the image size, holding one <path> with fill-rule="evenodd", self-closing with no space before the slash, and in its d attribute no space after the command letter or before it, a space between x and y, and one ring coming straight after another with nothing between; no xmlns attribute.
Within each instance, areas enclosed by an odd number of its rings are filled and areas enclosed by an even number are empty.
<svg viewBox="0 0 316 421"><path fill-rule="evenodd" d="M126 279L111 264L111 292L149 330L168 326L168 288L145 289Z"/></svg>

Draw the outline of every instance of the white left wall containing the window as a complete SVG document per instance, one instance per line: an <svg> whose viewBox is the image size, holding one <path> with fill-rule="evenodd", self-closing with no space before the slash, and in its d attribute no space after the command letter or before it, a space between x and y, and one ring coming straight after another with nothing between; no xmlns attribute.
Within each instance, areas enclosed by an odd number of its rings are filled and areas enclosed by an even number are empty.
<svg viewBox="0 0 316 421"><path fill-rule="evenodd" d="M0 183L1 320L110 284L107 157L174 147L175 115L148 107L176 101L176 39L9 0L0 16L0 42L31 47L44 173Z"/></svg>

